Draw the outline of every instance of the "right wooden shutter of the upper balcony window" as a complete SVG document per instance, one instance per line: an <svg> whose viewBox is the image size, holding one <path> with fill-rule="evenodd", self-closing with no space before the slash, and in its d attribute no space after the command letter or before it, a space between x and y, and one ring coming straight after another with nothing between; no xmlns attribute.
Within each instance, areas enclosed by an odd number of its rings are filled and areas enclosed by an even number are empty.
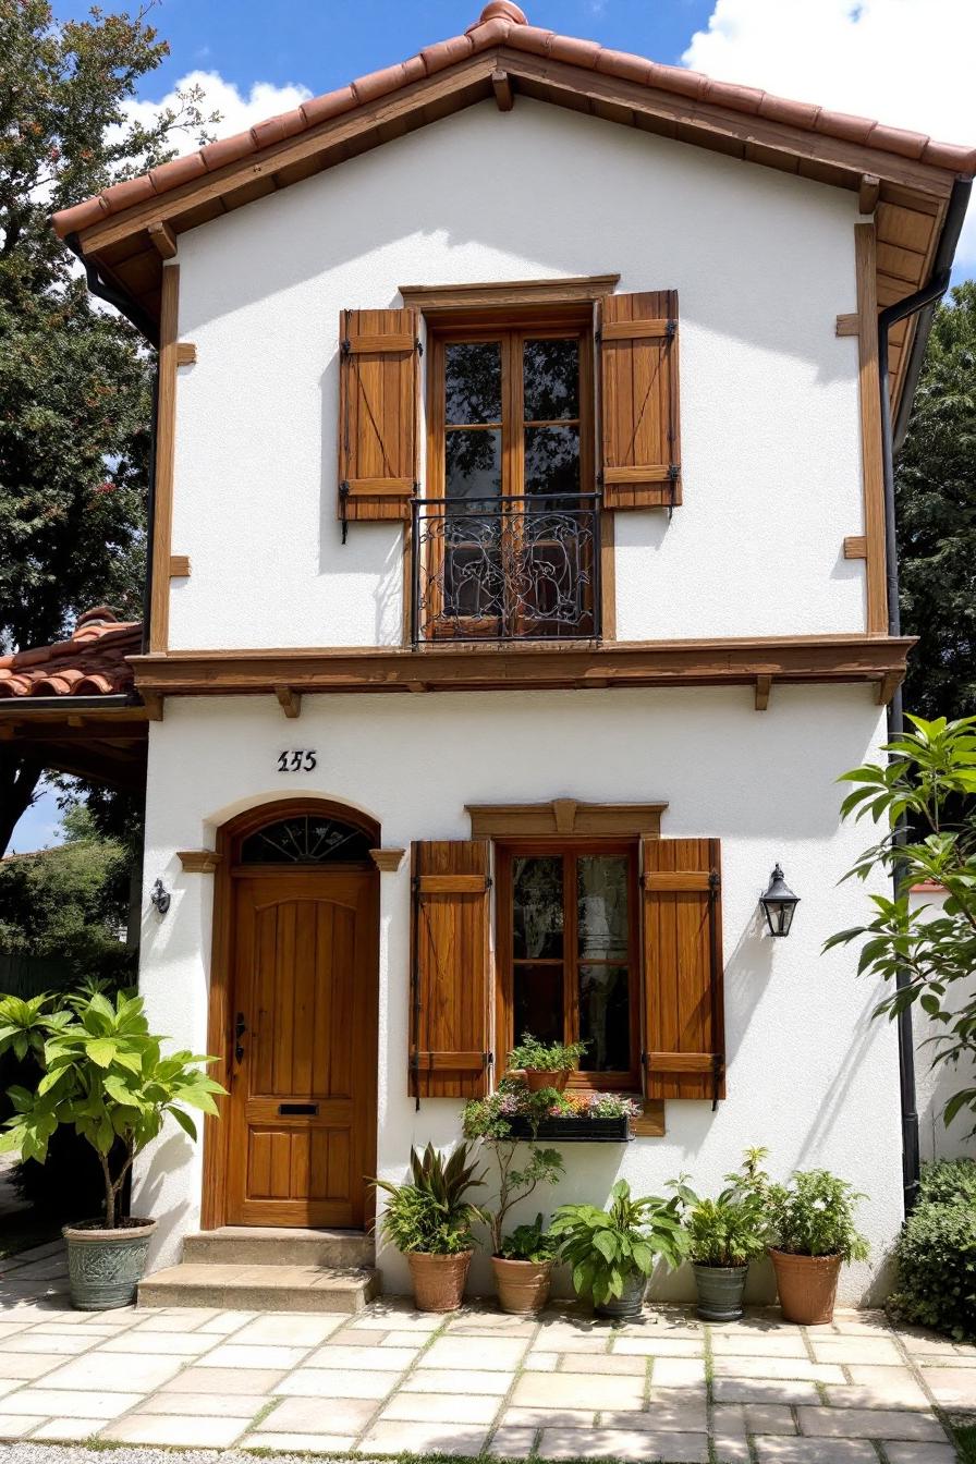
<svg viewBox="0 0 976 1464"><path fill-rule="evenodd" d="M598 329L603 507L680 504L677 291L609 294Z"/></svg>

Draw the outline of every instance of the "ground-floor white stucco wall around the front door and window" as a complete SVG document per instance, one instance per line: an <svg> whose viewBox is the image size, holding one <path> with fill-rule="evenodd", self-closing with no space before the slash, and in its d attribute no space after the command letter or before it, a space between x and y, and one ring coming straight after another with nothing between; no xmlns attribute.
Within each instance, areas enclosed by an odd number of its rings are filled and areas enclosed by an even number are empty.
<svg viewBox="0 0 976 1464"><path fill-rule="evenodd" d="M764 1143L777 1176L828 1165L871 1196L860 1221L875 1271L843 1281L844 1300L862 1300L901 1218L896 1032L869 1020L878 993L852 955L819 952L865 914L863 887L837 886L865 829L838 829L834 780L882 738L866 685L777 687L765 713L749 688L306 697L297 722L272 697L168 701L151 726L146 813L140 985L152 1026L203 1051L212 878L183 874L176 851L212 846L246 807L319 793L370 813L397 846L467 837L465 802L666 799L664 836L723 840L729 1097L716 1114L669 1102L661 1139L566 1148L566 1180L540 1203L603 1202L619 1174L660 1192L686 1170L713 1190L746 1145ZM282 777L278 754L296 745L316 748L318 767ZM802 897L784 941L762 935L757 909L776 859ZM157 877L173 890L164 919L148 905ZM407 870L382 875L380 890L379 1173L401 1179L411 1143L457 1140L461 1105L414 1113L407 1097ZM159 1218L155 1263L176 1261L198 1228L200 1162L179 1132L140 1162L135 1206ZM386 1287L405 1288L399 1258L380 1263ZM473 1282L487 1290L483 1258Z"/></svg>

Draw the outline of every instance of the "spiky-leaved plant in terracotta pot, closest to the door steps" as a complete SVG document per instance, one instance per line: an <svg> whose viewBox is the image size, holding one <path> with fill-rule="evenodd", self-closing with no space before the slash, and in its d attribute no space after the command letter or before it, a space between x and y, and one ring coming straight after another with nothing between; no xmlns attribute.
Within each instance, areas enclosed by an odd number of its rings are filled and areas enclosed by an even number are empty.
<svg viewBox="0 0 976 1464"><path fill-rule="evenodd" d="M373 1180L388 1195L383 1240L407 1256L418 1312L457 1312L474 1253L471 1227L484 1220L467 1195L483 1184L462 1143L445 1162L429 1143L410 1151L410 1181Z"/></svg>

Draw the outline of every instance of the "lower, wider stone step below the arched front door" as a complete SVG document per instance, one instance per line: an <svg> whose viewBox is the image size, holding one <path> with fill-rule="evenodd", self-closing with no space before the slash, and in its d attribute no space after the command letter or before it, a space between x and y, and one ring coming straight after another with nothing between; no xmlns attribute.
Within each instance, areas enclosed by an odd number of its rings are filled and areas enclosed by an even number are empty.
<svg viewBox="0 0 976 1464"><path fill-rule="evenodd" d="M230 1312L361 1312L379 1272L339 1266L239 1266L214 1262L157 1271L139 1282L138 1306L212 1306Z"/></svg>

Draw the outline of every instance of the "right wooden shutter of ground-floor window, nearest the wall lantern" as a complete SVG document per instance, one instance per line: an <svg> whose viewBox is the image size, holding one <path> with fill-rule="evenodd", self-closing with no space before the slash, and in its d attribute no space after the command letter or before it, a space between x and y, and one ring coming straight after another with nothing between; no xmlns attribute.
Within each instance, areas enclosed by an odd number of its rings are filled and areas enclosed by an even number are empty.
<svg viewBox="0 0 976 1464"><path fill-rule="evenodd" d="M644 1092L726 1095L718 839L644 842Z"/></svg>

